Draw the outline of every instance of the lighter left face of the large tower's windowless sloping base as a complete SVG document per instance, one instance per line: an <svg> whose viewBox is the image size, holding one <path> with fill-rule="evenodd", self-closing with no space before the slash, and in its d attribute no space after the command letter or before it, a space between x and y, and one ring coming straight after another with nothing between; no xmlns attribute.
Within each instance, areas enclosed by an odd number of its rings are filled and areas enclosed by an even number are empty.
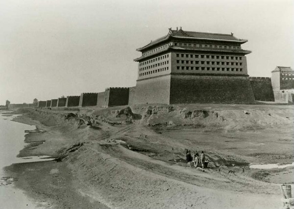
<svg viewBox="0 0 294 209"><path fill-rule="evenodd" d="M138 80L136 88L131 90L135 94L129 104L162 103L170 104L171 75Z"/></svg>

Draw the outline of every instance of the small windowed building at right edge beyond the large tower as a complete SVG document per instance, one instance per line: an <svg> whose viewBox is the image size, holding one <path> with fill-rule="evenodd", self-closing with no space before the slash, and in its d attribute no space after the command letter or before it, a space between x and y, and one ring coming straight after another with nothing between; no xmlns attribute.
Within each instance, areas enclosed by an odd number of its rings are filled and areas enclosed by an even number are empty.
<svg viewBox="0 0 294 209"><path fill-rule="evenodd" d="M294 70L277 66L271 71L271 85L276 102L294 102Z"/></svg>

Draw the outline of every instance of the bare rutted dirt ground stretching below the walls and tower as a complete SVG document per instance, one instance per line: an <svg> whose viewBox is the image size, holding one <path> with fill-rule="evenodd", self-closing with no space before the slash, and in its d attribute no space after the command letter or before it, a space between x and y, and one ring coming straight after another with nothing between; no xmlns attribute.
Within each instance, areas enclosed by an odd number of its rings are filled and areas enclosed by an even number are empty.
<svg viewBox="0 0 294 209"><path fill-rule="evenodd" d="M25 110L29 133L19 156L61 163L7 168L45 208L220 208L281 206L279 184L294 183L294 107L290 105L138 105ZM44 142L44 143L43 143ZM208 168L187 167L185 149L204 151ZM250 201L248 201L250 200ZM41 207L41 206L40 206Z"/></svg>

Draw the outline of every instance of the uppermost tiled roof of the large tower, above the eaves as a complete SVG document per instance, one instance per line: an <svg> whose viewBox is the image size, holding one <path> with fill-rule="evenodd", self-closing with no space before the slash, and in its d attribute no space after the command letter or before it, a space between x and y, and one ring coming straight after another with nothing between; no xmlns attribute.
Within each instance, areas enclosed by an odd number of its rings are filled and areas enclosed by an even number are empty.
<svg viewBox="0 0 294 209"><path fill-rule="evenodd" d="M169 33L166 36L160 37L156 40L151 41L146 46L138 48L137 51L147 48L148 46L153 46L162 41L168 40L170 37L174 38L186 38L186 39L209 39L217 41L228 41L228 42L239 42L245 43L247 40L236 38L233 33L231 34L220 34L220 33L204 33L204 32L195 32L195 31L184 31L182 28L179 30L169 29Z"/></svg>

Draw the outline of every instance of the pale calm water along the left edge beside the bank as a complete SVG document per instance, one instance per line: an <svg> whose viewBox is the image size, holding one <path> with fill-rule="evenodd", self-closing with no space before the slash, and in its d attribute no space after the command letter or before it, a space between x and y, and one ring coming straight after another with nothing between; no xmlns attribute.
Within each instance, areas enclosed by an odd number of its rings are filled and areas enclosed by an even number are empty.
<svg viewBox="0 0 294 209"><path fill-rule="evenodd" d="M3 167L12 163L26 163L48 161L48 156L17 158L19 151L25 146L25 130L34 130L36 127L11 121L14 116L3 116L0 112L0 208L36 208L33 200L25 196L24 192L10 184L13 177L4 178ZM8 184L7 184L8 183Z"/></svg>

